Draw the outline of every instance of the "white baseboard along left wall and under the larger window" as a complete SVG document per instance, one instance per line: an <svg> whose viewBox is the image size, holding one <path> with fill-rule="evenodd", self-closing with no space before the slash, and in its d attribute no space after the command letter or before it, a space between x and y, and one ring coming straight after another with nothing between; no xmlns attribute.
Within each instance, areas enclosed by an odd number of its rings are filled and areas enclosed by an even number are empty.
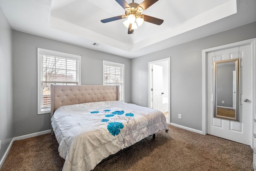
<svg viewBox="0 0 256 171"><path fill-rule="evenodd" d="M46 130L46 131L30 133L28 135L22 135L22 136L19 136L19 137L12 138L12 141L10 142L6 152L4 153L4 156L2 157L2 159L0 161L0 169L1 169L2 165L4 164L4 160L6 159L14 141L21 140L21 139L27 139L27 138L31 138L31 137L36 137L36 136L39 136L39 135L44 135L46 133L51 133L51 130L49 129L49 130Z"/></svg>

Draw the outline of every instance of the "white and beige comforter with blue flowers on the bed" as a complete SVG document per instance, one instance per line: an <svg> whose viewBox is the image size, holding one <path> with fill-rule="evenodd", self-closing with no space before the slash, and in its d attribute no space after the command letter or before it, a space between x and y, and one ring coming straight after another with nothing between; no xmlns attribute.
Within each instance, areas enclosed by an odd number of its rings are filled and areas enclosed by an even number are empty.
<svg viewBox="0 0 256 171"><path fill-rule="evenodd" d="M59 107L51 119L63 171L89 171L109 155L168 129L158 110L122 101Z"/></svg>

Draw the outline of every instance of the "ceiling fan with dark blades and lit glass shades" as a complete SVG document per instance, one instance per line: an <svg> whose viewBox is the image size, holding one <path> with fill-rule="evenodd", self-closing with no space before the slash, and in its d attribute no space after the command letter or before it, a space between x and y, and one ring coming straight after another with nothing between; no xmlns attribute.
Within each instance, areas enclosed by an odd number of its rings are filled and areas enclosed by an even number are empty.
<svg viewBox="0 0 256 171"><path fill-rule="evenodd" d="M134 3L134 0L132 0L132 3L128 4L125 0L116 0L116 2L124 8L125 15L106 18L100 21L106 23L127 18L127 20L124 21L123 24L128 28L128 34L133 34L134 29L138 28L138 26L141 26L144 21L150 22L152 24L161 25L164 22L164 20L141 14L148 7L152 6L157 1L158 0L144 0L141 4L137 4Z"/></svg>

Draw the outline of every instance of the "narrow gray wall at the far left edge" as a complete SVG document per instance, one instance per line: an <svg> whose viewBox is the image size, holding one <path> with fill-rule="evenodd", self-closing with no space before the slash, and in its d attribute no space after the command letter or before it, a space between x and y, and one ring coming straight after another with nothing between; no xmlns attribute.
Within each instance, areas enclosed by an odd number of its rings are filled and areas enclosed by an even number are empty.
<svg viewBox="0 0 256 171"><path fill-rule="evenodd" d="M12 127L12 29L0 8L0 161L12 141Z"/></svg>

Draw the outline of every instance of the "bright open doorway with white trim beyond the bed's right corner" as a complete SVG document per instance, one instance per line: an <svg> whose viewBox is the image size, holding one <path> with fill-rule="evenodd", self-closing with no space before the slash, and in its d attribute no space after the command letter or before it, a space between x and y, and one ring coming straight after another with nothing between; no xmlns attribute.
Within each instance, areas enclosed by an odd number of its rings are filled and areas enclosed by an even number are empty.
<svg viewBox="0 0 256 171"><path fill-rule="evenodd" d="M148 63L148 106L162 111L170 124L170 58Z"/></svg>

